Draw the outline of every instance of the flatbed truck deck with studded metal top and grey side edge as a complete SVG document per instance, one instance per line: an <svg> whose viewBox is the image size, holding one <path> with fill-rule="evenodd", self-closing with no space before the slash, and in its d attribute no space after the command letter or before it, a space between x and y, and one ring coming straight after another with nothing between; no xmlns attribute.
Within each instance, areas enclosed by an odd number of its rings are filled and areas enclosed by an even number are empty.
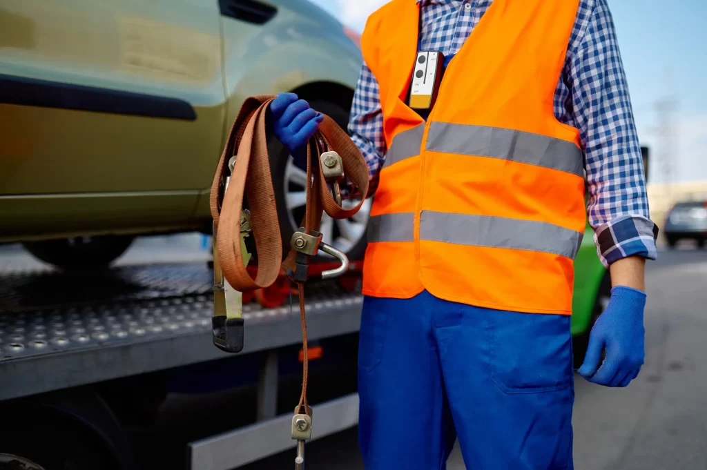
<svg viewBox="0 0 707 470"><path fill-rule="evenodd" d="M204 263L0 273L0 400L228 357L211 343L212 284ZM310 339L358 331L360 294L322 283L306 299ZM301 341L296 297L243 317L243 353Z"/></svg>

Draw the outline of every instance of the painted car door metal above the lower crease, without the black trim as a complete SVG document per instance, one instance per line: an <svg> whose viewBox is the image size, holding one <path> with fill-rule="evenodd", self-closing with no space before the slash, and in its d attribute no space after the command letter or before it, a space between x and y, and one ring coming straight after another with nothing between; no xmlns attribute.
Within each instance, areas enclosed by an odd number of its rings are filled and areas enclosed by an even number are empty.
<svg viewBox="0 0 707 470"><path fill-rule="evenodd" d="M5 139L30 143L11 143L25 151L0 159L2 194L201 189L212 169L199 155L218 153L226 101L214 2L8 0L3 8L28 27L0 49L2 74L179 98L197 119L0 105L11 126Z"/></svg>

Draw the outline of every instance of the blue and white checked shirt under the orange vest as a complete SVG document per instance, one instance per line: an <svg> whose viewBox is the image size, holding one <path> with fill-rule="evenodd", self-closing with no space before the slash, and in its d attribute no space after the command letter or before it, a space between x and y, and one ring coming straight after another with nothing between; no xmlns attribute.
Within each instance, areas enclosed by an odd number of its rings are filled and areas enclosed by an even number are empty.
<svg viewBox="0 0 707 470"><path fill-rule="evenodd" d="M416 1L422 3L421 49L447 57L461 49L492 0ZM386 151L378 93L378 81L363 64L349 134L368 163L371 191L378 186ZM580 0L554 112L560 122L580 130L588 218L604 266L628 256L655 259L658 229L648 218L641 147L606 0Z"/></svg>

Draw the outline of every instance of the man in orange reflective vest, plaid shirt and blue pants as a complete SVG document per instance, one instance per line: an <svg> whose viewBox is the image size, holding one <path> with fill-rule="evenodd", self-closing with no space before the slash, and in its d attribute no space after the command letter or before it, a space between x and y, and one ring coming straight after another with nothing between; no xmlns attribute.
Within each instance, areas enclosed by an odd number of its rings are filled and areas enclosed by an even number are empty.
<svg viewBox="0 0 707 470"><path fill-rule="evenodd" d="M638 375L656 257L606 0L393 0L362 47L349 132L375 192L358 365L366 469L443 469L457 437L469 469L572 469L585 182L614 286L578 371L590 382ZM418 51L442 52L445 70L416 112ZM291 94L271 105L299 162L320 119Z"/></svg>

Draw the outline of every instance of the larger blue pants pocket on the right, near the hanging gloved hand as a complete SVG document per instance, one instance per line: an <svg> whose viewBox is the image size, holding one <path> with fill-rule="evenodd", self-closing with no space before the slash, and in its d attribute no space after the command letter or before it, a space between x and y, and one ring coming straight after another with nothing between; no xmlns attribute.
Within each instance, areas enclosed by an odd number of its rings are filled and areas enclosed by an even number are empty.
<svg viewBox="0 0 707 470"><path fill-rule="evenodd" d="M491 378L506 393L540 393L572 383L569 315L489 312Z"/></svg>

